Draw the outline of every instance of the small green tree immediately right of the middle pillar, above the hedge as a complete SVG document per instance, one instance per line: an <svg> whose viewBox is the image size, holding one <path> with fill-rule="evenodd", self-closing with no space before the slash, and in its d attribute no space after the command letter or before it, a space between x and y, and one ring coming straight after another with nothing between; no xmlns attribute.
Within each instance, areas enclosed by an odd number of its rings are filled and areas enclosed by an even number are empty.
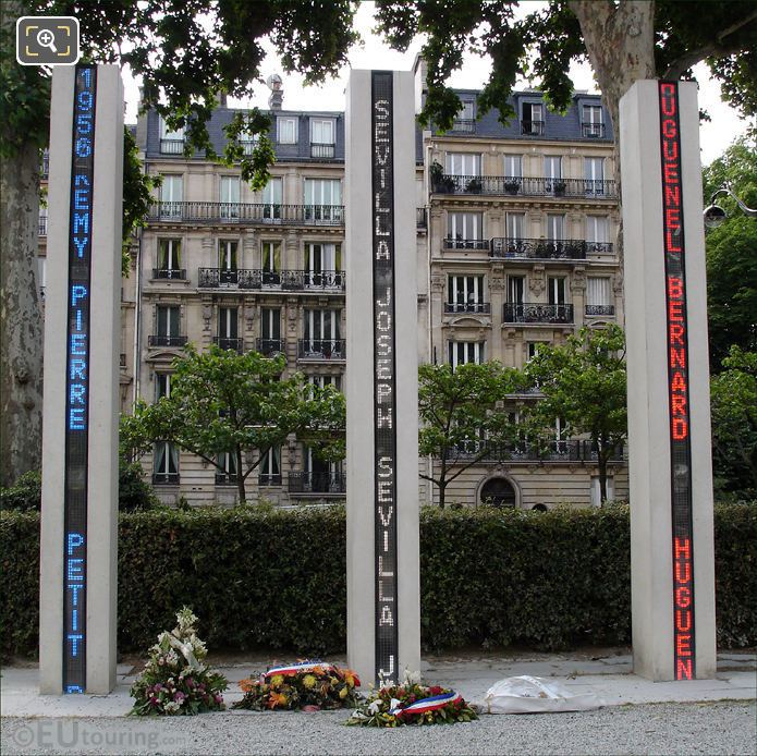
<svg viewBox="0 0 757 756"><path fill-rule="evenodd" d="M497 447L515 437L508 414L496 402L513 393L518 371L500 363L420 365L418 368L418 451L438 460L430 475L444 509L447 487Z"/></svg>

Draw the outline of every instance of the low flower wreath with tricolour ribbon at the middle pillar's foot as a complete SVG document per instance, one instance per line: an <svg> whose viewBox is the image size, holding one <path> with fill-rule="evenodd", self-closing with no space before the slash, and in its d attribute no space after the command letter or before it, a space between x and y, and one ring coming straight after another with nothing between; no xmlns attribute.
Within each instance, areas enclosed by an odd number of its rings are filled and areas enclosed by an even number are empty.
<svg viewBox="0 0 757 756"><path fill-rule="evenodd" d="M373 691L346 724L454 724L474 719L478 719L478 715L459 693L439 685L423 685L417 672L405 672L400 684L383 684Z"/></svg>

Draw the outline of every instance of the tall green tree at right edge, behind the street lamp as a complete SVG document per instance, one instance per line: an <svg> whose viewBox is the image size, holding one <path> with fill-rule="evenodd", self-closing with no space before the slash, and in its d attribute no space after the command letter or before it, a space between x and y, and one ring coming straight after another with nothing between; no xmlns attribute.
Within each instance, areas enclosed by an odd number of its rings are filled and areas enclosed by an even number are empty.
<svg viewBox="0 0 757 756"><path fill-rule="evenodd" d="M757 207L757 145L742 138L704 171L705 203L730 184L748 207ZM710 370L720 370L732 344L757 352L757 221L745 216L731 197L717 199L728 218L708 229L707 314Z"/></svg>

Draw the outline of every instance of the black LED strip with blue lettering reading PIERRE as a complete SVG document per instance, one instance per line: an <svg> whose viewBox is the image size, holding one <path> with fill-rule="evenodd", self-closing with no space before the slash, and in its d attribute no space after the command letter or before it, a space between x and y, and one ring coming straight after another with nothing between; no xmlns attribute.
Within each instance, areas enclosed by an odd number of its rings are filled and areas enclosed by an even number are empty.
<svg viewBox="0 0 757 756"><path fill-rule="evenodd" d="M77 65L74 84L66 337L63 544L63 691L86 690L87 443L89 302L97 69Z"/></svg>

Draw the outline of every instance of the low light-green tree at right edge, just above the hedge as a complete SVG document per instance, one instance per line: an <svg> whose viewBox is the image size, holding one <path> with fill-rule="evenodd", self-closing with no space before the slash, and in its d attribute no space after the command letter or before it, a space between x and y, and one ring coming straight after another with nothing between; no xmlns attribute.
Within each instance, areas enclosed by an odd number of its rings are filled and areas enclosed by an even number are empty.
<svg viewBox="0 0 757 756"><path fill-rule="evenodd" d="M732 346L710 382L716 490L757 498L757 352Z"/></svg>

